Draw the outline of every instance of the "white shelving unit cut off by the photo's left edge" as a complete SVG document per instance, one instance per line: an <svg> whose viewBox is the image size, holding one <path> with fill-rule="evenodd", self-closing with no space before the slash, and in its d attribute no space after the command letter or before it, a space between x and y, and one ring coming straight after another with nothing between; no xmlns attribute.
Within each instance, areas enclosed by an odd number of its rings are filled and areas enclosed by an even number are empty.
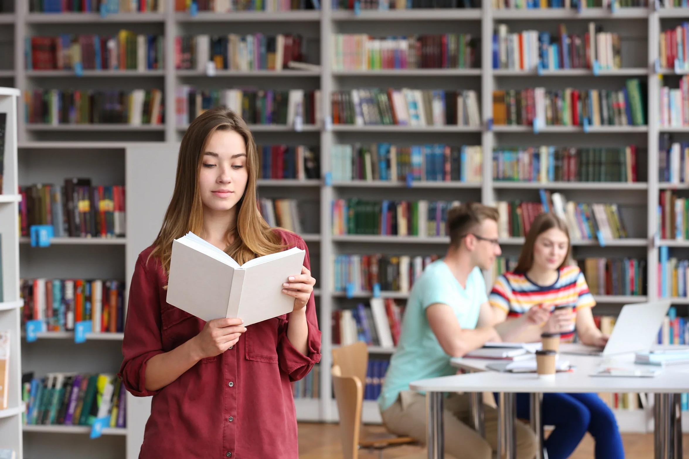
<svg viewBox="0 0 689 459"><path fill-rule="evenodd" d="M19 89L0 87L0 113L6 114L2 189L0 190L0 265L3 296L0 297L0 330L10 333L10 365L8 408L0 411L0 445L13 449L17 459L22 456L21 438L21 333L19 296L19 237L17 235L17 100ZM2 159L0 151L0 160Z"/></svg>

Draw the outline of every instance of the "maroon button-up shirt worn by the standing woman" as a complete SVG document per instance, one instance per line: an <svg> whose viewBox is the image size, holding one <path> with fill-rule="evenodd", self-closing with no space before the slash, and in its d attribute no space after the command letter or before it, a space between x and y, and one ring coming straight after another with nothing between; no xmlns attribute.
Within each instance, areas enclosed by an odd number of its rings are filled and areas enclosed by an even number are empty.
<svg viewBox="0 0 689 459"><path fill-rule="evenodd" d="M280 230L276 230L280 231ZM287 248L303 239L280 231ZM306 306L307 355L287 339L289 314L247 327L236 345L203 359L157 391L145 389L146 362L196 336L205 324L165 301L167 276L152 247L139 255L130 285L120 376L135 396L153 396L141 459L297 459L291 381L320 361L313 295Z"/></svg>

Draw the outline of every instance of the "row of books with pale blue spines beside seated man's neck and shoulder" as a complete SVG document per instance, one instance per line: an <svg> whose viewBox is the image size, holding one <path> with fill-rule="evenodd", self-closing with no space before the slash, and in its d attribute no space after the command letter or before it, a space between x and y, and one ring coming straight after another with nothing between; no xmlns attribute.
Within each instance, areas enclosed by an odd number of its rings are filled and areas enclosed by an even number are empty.
<svg viewBox="0 0 689 459"><path fill-rule="evenodd" d="M332 285L336 292L351 295L380 290L407 293L426 266L438 255L334 255Z"/></svg>

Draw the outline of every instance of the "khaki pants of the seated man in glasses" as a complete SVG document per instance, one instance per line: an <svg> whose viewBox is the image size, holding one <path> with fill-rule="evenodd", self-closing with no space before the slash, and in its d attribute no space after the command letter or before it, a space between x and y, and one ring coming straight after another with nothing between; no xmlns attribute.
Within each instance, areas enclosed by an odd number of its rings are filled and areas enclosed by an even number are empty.
<svg viewBox="0 0 689 459"><path fill-rule="evenodd" d="M457 459L491 459L497 449L497 410L484 405L486 438L470 426L471 403L469 394L451 394L444 399L443 422L445 452ZM404 391L397 401L382 412L383 424L393 434L415 438L426 443L426 396ZM536 438L528 425L515 423L517 459L536 456Z"/></svg>

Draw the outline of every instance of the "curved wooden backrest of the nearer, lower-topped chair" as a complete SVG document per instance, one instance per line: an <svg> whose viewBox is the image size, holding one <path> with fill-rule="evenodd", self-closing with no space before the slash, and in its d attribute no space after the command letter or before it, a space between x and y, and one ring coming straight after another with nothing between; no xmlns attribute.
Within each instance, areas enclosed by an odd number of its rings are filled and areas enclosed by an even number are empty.
<svg viewBox="0 0 689 459"><path fill-rule="evenodd" d="M331 374L340 418L342 457L344 459L358 459L364 386L357 376L342 376L342 371L338 365L333 365Z"/></svg>

